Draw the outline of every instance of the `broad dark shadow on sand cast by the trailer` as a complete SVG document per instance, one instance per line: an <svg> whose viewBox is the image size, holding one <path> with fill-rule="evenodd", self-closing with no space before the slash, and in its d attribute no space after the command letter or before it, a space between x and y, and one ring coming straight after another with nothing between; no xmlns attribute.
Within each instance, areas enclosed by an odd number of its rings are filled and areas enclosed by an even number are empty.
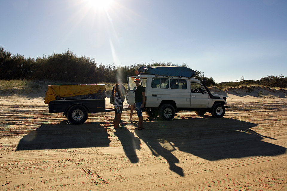
<svg viewBox="0 0 287 191"><path fill-rule="evenodd" d="M69 125L64 120L60 124L42 124L25 135L16 150L109 147L108 136L107 129L98 123Z"/></svg>

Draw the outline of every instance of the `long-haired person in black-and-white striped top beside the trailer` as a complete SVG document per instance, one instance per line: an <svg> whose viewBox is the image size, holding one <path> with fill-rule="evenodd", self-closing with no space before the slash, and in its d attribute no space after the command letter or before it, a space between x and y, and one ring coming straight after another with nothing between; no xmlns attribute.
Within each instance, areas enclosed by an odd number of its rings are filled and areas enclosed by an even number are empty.
<svg viewBox="0 0 287 191"><path fill-rule="evenodd" d="M120 124L120 117L123 112L123 101L122 101L122 91L121 91L121 86L120 84L115 85L115 113L116 113L116 118L115 118L115 127L114 129L122 129L119 127Z"/></svg>

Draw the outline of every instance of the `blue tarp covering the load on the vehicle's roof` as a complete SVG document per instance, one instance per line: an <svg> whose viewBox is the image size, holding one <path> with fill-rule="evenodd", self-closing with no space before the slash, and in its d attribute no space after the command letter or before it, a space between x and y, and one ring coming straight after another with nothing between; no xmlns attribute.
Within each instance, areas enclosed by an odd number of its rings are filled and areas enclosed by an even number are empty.
<svg viewBox="0 0 287 191"><path fill-rule="evenodd" d="M181 76L191 78L195 71L183 66L141 66L138 68L139 73L158 74L160 76Z"/></svg>

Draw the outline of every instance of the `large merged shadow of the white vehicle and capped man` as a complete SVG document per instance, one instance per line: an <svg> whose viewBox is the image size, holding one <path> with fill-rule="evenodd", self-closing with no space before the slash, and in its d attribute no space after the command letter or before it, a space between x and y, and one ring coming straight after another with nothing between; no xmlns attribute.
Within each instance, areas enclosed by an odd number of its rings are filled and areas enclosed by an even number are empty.
<svg viewBox="0 0 287 191"><path fill-rule="evenodd" d="M180 124L178 125L178 120ZM250 128L257 124L231 118L174 118L172 121L149 120L146 129L135 133L149 147L153 155L163 156L170 170L184 176L178 159L161 142L173 148L209 161L251 156L274 156L286 152L285 147L262 141L263 138Z"/></svg>

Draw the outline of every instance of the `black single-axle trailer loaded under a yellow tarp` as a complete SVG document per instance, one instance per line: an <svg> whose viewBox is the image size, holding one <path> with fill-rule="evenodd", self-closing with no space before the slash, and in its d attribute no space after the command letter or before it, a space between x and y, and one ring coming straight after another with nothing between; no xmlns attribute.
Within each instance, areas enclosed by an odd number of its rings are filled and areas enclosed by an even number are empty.
<svg viewBox="0 0 287 191"><path fill-rule="evenodd" d="M71 124L83 124L88 113L115 111L106 108L105 92L104 84L48 85L44 103L49 104L49 113L63 113Z"/></svg>

